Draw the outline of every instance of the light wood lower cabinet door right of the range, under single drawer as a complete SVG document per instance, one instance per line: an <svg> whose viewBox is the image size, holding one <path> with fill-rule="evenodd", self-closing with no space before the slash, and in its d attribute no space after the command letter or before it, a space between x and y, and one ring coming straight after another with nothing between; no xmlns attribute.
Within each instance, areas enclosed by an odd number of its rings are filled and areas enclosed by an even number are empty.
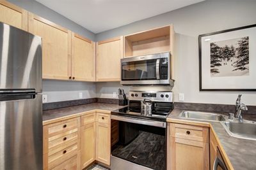
<svg viewBox="0 0 256 170"><path fill-rule="evenodd" d="M172 170L209 169L209 143L170 138Z"/></svg>

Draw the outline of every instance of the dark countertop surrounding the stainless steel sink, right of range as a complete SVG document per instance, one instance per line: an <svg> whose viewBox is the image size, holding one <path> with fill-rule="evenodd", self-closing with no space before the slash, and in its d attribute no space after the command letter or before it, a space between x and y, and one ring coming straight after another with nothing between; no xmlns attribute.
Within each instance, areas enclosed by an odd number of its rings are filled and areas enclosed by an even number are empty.
<svg viewBox="0 0 256 170"><path fill-rule="evenodd" d="M167 122L172 120L184 120L184 124L186 124L186 121L202 122L202 125L204 123L211 124L234 169L256 169L256 141L229 136L220 122L180 118L179 114L181 111L182 110L174 109L168 116ZM256 115L243 116L246 120L256 120ZM187 122L187 124L189 123Z"/></svg>

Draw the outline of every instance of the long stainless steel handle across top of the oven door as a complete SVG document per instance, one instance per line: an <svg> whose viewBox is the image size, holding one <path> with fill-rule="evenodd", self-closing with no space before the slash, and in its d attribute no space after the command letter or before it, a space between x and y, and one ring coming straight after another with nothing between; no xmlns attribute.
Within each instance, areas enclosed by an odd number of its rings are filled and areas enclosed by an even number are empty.
<svg viewBox="0 0 256 170"><path fill-rule="evenodd" d="M166 128L166 122L158 122L154 120L144 120L140 118L132 118L132 117L120 117L116 115L111 115L112 120L119 120L122 122L129 122L133 124L141 124L141 125L151 125L155 127L163 127Z"/></svg>

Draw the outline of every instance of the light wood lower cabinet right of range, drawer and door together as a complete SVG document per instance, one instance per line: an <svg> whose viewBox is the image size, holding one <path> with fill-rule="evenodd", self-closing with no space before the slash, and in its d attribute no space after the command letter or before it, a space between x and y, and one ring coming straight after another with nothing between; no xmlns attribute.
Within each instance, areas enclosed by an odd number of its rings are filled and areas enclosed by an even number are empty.
<svg viewBox="0 0 256 170"><path fill-rule="evenodd" d="M209 128L168 124L168 169L209 169Z"/></svg>

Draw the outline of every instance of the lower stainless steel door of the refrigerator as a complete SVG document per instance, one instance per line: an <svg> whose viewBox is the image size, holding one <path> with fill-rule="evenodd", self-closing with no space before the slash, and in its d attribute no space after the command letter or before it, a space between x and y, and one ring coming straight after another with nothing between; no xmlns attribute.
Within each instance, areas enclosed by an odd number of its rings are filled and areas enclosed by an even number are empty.
<svg viewBox="0 0 256 170"><path fill-rule="evenodd" d="M43 169L42 95L0 101L0 169Z"/></svg>

